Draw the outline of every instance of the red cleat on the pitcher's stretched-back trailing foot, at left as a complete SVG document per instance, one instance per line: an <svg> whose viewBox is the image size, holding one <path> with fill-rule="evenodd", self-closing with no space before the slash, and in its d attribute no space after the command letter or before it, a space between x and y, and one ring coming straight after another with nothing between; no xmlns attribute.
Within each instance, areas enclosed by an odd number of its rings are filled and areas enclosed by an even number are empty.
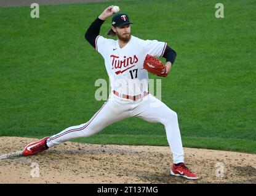
<svg viewBox="0 0 256 196"><path fill-rule="evenodd" d="M48 138L49 137L45 137L45 138L42 138L42 140L26 145L26 147L23 149L23 155L30 156L48 149L48 146L46 145L46 140Z"/></svg>

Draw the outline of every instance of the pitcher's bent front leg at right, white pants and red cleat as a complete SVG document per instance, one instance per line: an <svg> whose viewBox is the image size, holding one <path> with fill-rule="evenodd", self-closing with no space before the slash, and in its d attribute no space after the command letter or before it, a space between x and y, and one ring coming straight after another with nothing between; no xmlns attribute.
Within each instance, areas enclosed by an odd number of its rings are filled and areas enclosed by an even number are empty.
<svg viewBox="0 0 256 196"><path fill-rule="evenodd" d="M151 123L162 123L166 129L167 141L172 151L174 165L170 173L175 176L182 176L188 179L198 179L198 176L184 164L184 152L180 128L178 126L178 117L175 111L167 107L151 94L144 97L137 107L132 111L132 115L144 119Z"/></svg>

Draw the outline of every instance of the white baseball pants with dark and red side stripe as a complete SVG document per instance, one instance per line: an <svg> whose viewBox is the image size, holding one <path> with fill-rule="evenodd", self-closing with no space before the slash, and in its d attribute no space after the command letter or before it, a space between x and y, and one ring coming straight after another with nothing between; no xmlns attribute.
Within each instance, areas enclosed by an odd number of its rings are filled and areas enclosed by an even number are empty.
<svg viewBox="0 0 256 196"><path fill-rule="evenodd" d="M47 140L47 146L50 148L74 138L90 137L116 121L133 116L151 123L162 123L166 129L174 163L184 162L177 113L151 94L134 101L123 99L111 92L102 108L87 123L68 127L59 134L53 135Z"/></svg>

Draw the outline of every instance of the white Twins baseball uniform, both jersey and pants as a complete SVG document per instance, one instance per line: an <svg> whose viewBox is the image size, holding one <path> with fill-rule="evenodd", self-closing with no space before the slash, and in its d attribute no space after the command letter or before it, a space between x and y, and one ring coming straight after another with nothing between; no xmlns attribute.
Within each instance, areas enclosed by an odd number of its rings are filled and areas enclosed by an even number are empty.
<svg viewBox="0 0 256 196"><path fill-rule="evenodd" d="M134 36L123 48L119 47L118 40L106 39L102 36L98 36L95 40L96 50L105 59L112 90L130 96L148 91L148 72L143 69L143 62L147 54L162 56L166 45L165 42L142 40ZM151 94L138 100L130 100L122 99L111 92L102 108L89 121L52 135L47 139L47 146L50 148L74 138L90 137L110 124L134 116L151 123L162 123L166 129L174 163L184 162L177 113Z"/></svg>

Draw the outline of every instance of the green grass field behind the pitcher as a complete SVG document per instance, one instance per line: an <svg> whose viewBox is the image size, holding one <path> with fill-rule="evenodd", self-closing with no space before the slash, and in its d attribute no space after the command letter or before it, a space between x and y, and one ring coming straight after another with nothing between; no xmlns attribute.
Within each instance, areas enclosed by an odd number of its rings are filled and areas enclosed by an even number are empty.
<svg viewBox="0 0 256 196"><path fill-rule="evenodd" d="M126 12L134 36L177 51L162 101L178 113L183 145L256 153L256 2L119 1L0 8L0 136L44 137L90 119L103 58L84 32L105 7ZM108 19L102 34L110 28ZM164 60L164 59L162 59ZM150 78L158 78L150 75ZM75 141L167 145L164 126L130 118Z"/></svg>

